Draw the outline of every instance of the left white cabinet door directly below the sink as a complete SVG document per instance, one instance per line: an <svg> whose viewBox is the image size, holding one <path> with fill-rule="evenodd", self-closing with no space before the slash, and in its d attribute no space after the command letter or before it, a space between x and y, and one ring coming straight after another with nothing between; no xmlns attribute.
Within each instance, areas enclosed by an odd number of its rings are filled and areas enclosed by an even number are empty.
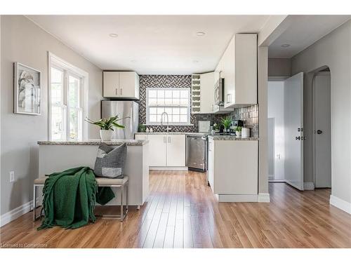
<svg viewBox="0 0 351 263"><path fill-rule="evenodd" d="M149 140L149 166L166 166L167 136L147 135Z"/></svg>

